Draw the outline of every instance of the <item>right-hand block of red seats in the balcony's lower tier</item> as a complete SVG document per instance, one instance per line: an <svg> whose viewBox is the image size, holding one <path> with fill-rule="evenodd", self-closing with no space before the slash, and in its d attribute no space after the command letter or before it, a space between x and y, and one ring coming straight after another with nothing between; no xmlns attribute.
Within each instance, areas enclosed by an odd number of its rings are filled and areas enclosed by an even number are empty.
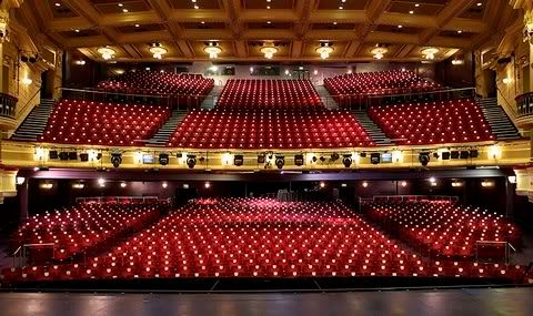
<svg viewBox="0 0 533 316"><path fill-rule="evenodd" d="M396 144L495 140L481 108L471 99L371 106L368 113Z"/></svg>

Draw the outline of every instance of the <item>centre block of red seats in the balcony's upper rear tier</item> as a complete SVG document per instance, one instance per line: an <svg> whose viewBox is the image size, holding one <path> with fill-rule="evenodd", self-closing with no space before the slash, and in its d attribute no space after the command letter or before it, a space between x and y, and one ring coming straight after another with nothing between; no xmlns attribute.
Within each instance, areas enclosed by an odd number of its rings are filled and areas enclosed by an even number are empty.
<svg viewBox="0 0 533 316"><path fill-rule="evenodd" d="M219 106L301 108L323 106L309 80L229 80L220 95Z"/></svg>

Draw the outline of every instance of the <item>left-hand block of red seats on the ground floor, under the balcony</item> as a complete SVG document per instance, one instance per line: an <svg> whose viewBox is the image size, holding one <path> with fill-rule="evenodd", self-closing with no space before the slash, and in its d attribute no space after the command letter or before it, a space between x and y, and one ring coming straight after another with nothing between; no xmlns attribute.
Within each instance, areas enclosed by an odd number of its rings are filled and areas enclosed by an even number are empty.
<svg viewBox="0 0 533 316"><path fill-rule="evenodd" d="M66 261L81 252L109 246L114 238L140 230L159 214L157 203L79 204L30 217L13 234L11 247L53 244L53 259Z"/></svg>

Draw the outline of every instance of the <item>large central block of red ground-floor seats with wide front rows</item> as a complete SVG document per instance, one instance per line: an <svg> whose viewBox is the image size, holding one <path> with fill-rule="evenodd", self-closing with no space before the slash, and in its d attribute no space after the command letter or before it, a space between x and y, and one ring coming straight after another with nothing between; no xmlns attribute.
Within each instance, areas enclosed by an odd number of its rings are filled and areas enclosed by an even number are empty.
<svg viewBox="0 0 533 316"><path fill-rule="evenodd" d="M486 277L524 267L431 262L336 202L200 198L87 262L2 271L6 284L223 277Z"/></svg>

